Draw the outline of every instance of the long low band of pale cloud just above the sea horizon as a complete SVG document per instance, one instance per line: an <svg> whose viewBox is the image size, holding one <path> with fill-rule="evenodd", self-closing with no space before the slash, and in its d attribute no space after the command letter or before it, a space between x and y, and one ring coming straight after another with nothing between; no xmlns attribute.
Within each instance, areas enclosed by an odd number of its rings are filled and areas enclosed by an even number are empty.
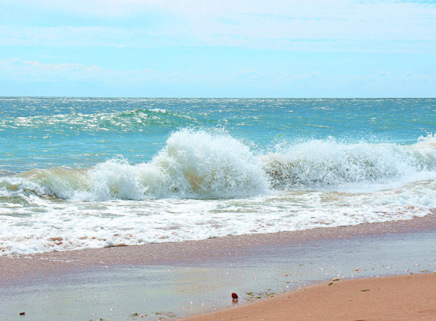
<svg viewBox="0 0 436 321"><path fill-rule="evenodd" d="M56 87L55 83L62 84L72 88L65 93L70 96L86 94L89 86L101 88L106 95L113 94L116 89L134 96L143 96L144 93L203 96L202 92L207 92L207 96L434 96L436 73L380 70L366 74L326 75L316 70L292 73L289 70L262 72L257 69L241 69L232 74L198 73L195 70L164 73L153 69L119 71L82 63L50 64L9 59L0 60L0 80L4 84L25 85L27 92L20 94L35 94L32 89L43 86L46 94L56 95L59 94L56 89L50 92L46 83L52 82L53 87Z"/></svg>

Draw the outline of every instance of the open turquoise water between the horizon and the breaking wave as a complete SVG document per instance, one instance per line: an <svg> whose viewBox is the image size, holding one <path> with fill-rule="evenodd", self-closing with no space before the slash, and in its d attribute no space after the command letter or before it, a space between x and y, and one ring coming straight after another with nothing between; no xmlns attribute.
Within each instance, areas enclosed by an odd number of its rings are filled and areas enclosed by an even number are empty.
<svg viewBox="0 0 436 321"><path fill-rule="evenodd" d="M415 143L436 124L436 99L0 98L0 169L150 160L171 132L222 129L255 150L280 141Z"/></svg>

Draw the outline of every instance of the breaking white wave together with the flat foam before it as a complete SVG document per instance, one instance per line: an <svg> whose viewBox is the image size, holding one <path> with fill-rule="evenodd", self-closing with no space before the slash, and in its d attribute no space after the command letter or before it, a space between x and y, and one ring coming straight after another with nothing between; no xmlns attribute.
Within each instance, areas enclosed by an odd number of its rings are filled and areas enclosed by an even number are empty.
<svg viewBox="0 0 436 321"><path fill-rule="evenodd" d="M0 255L404 220L436 211L436 137L260 153L181 130L148 163L3 177L0 201Z"/></svg>

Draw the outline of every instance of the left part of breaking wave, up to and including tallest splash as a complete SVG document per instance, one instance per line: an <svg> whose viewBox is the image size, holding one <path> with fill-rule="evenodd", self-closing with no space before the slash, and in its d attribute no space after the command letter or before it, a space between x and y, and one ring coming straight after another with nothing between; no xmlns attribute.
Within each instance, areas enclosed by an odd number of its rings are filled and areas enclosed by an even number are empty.
<svg viewBox="0 0 436 321"><path fill-rule="evenodd" d="M2 179L8 191L26 191L76 201L168 197L229 198L267 192L269 183L252 151L227 134L174 132L150 162L122 158L90 170L31 170Z"/></svg>

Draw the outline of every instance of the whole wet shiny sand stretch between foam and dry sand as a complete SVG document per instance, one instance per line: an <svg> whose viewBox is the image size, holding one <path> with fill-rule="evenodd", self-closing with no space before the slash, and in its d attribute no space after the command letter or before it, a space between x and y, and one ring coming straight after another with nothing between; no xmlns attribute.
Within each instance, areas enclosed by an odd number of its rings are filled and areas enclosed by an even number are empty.
<svg viewBox="0 0 436 321"><path fill-rule="evenodd" d="M23 320L21 310L28 320L159 320L230 308L231 292L241 294L237 305L244 306L333 278L434 272L435 232L432 214L351 227L1 257L0 314L6 320Z"/></svg>

